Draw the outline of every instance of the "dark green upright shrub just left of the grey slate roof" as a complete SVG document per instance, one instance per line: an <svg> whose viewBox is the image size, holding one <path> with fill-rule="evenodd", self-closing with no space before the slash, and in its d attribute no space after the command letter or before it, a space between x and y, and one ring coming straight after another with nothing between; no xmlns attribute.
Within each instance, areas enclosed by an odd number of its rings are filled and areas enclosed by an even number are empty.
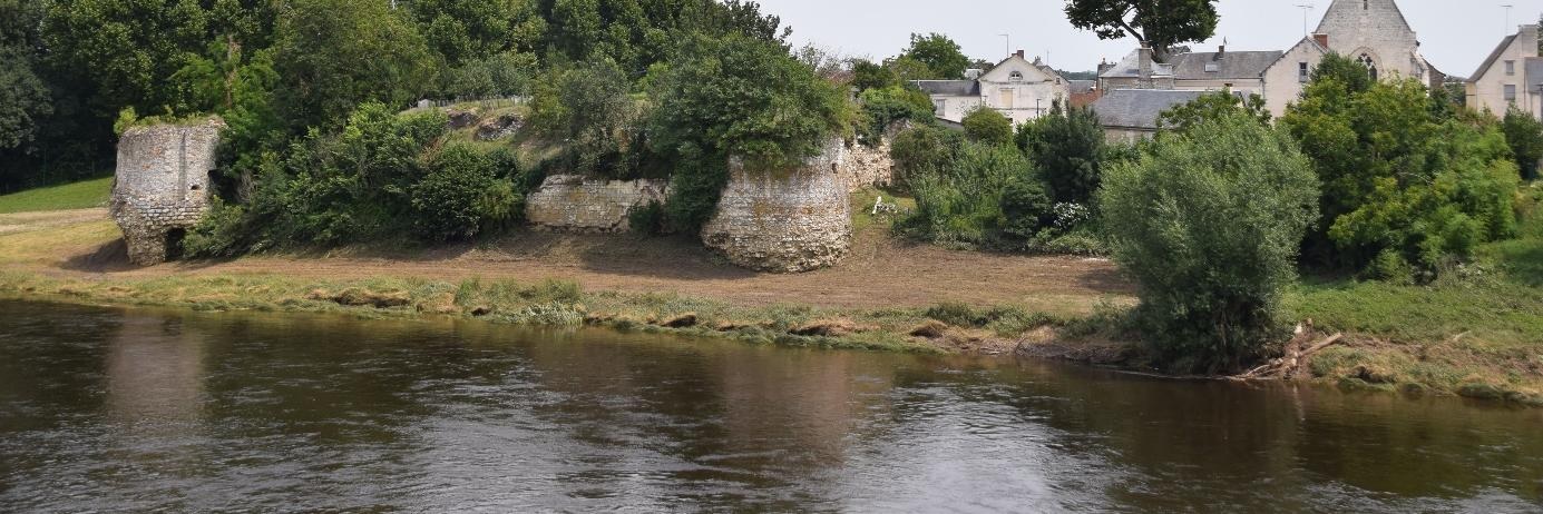
<svg viewBox="0 0 1543 514"><path fill-rule="evenodd" d="M1086 205L1099 191L1105 145L1092 109L1055 102L1051 112L1023 126L1020 139L1055 202Z"/></svg>

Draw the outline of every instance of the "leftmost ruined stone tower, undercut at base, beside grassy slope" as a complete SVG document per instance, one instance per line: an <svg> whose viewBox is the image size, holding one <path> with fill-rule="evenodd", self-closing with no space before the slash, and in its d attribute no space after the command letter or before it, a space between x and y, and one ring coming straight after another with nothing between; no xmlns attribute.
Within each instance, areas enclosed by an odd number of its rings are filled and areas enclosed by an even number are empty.
<svg viewBox="0 0 1543 514"><path fill-rule="evenodd" d="M117 142L113 220L128 260L153 266L174 257L187 228L208 211L210 171L225 123L134 126Z"/></svg>

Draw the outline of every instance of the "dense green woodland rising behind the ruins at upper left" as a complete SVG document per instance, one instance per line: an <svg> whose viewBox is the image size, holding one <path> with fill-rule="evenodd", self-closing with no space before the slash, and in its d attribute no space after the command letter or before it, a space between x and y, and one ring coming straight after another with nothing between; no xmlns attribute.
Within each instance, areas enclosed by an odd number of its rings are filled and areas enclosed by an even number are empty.
<svg viewBox="0 0 1543 514"><path fill-rule="evenodd" d="M730 34L787 31L741 0L0 0L0 191L110 172L125 109L222 115L250 175L367 102L528 94L577 62L633 83Z"/></svg>

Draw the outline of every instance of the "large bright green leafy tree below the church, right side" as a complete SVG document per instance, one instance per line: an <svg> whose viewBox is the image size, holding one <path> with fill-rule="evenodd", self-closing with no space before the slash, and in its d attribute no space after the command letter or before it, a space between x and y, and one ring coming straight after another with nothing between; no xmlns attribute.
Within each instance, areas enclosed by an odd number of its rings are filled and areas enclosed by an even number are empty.
<svg viewBox="0 0 1543 514"><path fill-rule="evenodd" d="M1515 228L1518 174L1498 123L1440 117L1416 80L1355 92L1338 74L1321 74L1281 126L1324 185L1322 217L1305 246L1312 263L1370 277L1412 268L1429 280Z"/></svg>

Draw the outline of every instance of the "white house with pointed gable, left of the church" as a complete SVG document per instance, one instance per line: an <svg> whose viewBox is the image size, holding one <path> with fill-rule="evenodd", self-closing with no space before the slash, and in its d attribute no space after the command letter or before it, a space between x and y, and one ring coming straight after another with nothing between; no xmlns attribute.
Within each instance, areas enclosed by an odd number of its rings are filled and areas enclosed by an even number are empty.
<svg viewBox="0 0 1543 514"><path fill-rule="evenodd" d="M1023 51L1009 55L991 71L972 80L912 80L932 97L938 118L960 123L971 111L986 106L997 109L1014 125L1037 118L1055 100L1071 97L1071 85L1055 69Z"/></svg>

